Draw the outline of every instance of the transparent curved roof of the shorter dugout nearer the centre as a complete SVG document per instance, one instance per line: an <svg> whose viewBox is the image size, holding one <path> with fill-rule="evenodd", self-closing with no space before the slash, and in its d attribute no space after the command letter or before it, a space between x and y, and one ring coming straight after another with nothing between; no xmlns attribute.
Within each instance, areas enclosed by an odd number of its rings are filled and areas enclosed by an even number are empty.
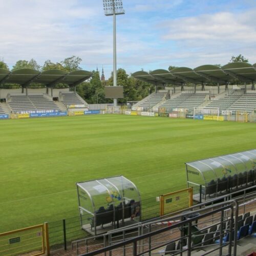
<svg viewBox="0 0 256 256"><path fill-rule="evenodd" d="M78 182L79 206L94 214L100 207L140 202L140 194L133 182L124 176Z"/></svg>

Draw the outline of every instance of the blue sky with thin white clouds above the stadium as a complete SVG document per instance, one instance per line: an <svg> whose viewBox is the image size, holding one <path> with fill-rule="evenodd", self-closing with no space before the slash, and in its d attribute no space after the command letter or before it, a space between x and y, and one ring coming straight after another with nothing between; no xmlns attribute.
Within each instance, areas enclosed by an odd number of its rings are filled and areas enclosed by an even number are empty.
<svg viewBox="0 0 256 256"><path fill-rule="evenodd" d="M0 0L0 60L11 68L73 55L84 70L113 70L113 17L102 0ZM256 0L123 0L116 17L117 68L127 74L171 66L256 62Z"/></svg>

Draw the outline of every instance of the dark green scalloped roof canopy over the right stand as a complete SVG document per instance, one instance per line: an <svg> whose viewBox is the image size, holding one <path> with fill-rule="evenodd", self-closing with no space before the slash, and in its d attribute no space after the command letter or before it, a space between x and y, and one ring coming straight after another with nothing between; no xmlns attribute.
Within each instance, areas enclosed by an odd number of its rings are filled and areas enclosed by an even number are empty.
<svg viewBox="0 0 256 256"><path fill-rule="evenodd" d="M251 65L245 62L232 62L219 68L215 65L203 65L195 69L175 68L173 70L157 69L152 72L138 71L133 77L155 85L174 84L183 86L185 83L193 84L227 84L239 80L254 83L256 80L256 63Z"/></svg>

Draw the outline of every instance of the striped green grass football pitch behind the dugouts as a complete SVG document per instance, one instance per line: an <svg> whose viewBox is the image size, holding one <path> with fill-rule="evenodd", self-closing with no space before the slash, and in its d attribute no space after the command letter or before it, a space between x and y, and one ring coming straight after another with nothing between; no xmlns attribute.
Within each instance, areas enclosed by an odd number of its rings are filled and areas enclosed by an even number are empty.
<svg viewBox="0 0 256 256"><path fill-rule="evenodd" d="M1 120L0 233L78 216L75 182L123 175L142 198L184 162L256 148L256 124L125 115Z"/></svg>

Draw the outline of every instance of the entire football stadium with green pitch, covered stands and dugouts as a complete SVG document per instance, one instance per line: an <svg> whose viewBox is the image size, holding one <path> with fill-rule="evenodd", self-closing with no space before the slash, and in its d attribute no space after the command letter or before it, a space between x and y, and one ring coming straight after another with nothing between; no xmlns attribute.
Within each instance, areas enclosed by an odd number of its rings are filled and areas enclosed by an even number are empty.
<svg viewBox="0 0 256 256"><path fill-rule="evenodd" d="M155 65L131 101L115 67L104 102L56 67L0 68L0 255L255 254L256 63Z"/></svg>

